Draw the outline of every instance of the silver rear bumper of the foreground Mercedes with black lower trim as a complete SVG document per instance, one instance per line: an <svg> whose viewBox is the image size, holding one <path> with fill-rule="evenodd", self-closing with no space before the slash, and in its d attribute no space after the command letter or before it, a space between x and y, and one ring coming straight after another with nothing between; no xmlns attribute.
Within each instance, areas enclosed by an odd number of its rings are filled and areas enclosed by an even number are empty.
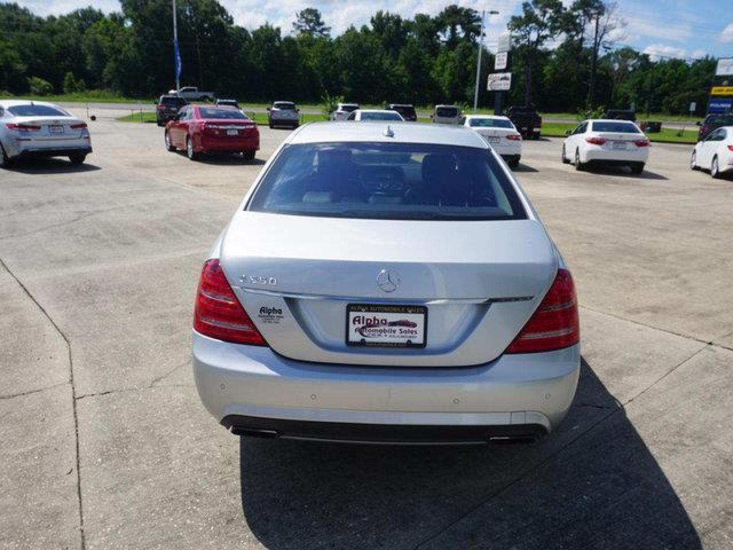
<svg viewBox="0 0 733 550"><path fill-rule="evenodd" d="M474 367L355 367L294 361L194 332L202 403L233 433L369 443L525 441L561 422L580 346Z"/></svg>

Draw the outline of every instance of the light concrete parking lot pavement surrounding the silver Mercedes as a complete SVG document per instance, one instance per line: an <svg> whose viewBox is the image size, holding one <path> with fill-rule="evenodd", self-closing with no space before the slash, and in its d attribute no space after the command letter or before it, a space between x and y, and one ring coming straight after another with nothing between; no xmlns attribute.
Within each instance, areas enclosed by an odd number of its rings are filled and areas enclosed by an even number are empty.
<svg viewBox="0 0 733 550"><path fill-rule="evenodd" d="M641 177L525 142L516 174L578 285L561 429L511 447L238 439L196 395L199 269L257 161L191 163L160 128L0 172L0 546L728 549L733 180L655 144Z"/></svg>

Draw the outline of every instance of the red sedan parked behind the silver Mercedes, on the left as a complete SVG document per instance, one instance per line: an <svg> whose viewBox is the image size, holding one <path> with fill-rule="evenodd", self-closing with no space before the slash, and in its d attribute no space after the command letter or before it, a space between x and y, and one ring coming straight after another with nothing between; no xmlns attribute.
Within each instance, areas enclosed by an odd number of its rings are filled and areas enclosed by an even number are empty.
<svg viewBox="0 0 733 550"><path fill-rule="evenodd" d="M215 152L242 153L251 160L259 149L259 130L235 107L187 105L166 124L166 149L183 149L192 161Z"/></svg>

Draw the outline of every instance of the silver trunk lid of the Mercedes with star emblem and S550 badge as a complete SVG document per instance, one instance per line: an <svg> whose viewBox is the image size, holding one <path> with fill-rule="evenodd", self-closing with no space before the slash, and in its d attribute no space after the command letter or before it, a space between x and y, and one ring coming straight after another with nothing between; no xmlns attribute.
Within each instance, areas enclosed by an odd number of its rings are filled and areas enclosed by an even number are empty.
<svg viewBox="0 0 733 550"><path fill-rule="evenodd" d="M404 366L496 359L557 271L552 243L535 220L392 221L245 211L226 230L220 260L274 351L303 361ZM377 281L382 271L397 281L390 292ZM350 304L424 307L424 348L347 345Z"/></svg>

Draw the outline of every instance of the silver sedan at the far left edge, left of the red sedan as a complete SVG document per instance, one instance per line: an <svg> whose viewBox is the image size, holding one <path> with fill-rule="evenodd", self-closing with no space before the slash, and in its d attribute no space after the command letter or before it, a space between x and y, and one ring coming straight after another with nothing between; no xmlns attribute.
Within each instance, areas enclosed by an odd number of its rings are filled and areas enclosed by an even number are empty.
<svg viewBox="0 0 733 550"><path fill-rule="evenodd" d="M0 100L0 167L17 158L65 156L81 164L92 153L86 122L54 103Z"/></svg>

